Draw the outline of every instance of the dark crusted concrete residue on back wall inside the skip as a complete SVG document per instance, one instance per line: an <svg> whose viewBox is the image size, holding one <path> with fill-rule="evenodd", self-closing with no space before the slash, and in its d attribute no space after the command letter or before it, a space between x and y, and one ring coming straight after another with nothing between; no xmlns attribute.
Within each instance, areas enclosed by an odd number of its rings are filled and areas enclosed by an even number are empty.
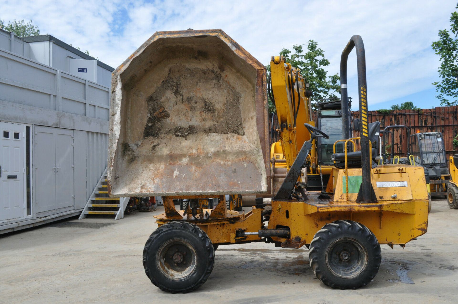
<svg viewBox="0 0 458 304"><path fill-rule="evenodd" d="M240 96L220 71L174 65L146 98L143 137L173 134L186 139L197 133L243 136Z"/></svg>

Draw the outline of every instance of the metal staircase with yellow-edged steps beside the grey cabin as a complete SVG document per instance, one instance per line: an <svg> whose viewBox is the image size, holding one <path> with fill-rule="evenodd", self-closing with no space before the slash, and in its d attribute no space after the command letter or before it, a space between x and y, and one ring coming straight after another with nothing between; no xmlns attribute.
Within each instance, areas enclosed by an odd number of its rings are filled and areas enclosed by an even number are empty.
<svg viewBox="0 0 458 304"><path fill-rule="evenodd" d="M104 174L98 180L78 219L81 220L88 214L111 214L115 215L115 220L124 217L129 197L108 197L107 187L107 168L105 168Z"/></svg>

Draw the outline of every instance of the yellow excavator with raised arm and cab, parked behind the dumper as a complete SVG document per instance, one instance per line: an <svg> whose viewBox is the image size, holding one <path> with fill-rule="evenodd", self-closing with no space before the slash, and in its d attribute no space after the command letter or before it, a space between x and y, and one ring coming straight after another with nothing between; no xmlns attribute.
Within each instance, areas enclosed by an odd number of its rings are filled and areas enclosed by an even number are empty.
<svg viewBox="0 0 458 304"><path fill-rule="evenodd" d="M268 93L275 104L278 117L277 129L279 141L273 142L270 150L272 195L283 182L286 173L294 162L300 148L310 135L304 124L315 126L312 119L311 91L300 70L287 63L283 56L272 57L270 62ZM317 103L318 128L331 139L318 138L312 142L312 149L307 157L306 169L301 177L307 190L324 190L333 168L331 154L333 143L343 138L340 98ZM343 145L338 145L338 152L343 152ZM323 194L324 193L323 191Z"/></svg>

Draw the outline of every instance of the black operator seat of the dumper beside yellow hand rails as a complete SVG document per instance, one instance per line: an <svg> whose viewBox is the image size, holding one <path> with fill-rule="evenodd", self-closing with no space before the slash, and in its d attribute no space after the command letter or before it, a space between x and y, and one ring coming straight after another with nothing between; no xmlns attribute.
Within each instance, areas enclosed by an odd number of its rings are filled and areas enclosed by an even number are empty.
<svg viewBox="0 0 458 304"><path fill-rule="evenodd" d="M375 157L379 147L380 121L369 124L369 140L372 143L372 168L377 166ZM334 164L337 168L345 168L345 153L334 153L331 157L336 161ZM361 168L361 151L347 152L348 168Z"/></svg>

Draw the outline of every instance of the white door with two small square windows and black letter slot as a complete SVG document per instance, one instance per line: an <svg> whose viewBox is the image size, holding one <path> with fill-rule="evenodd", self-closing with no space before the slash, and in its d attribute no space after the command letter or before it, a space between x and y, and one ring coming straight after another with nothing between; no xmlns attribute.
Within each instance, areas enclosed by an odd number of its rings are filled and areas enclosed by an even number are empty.
<svg viewBox="0 0 458 304"><path fill-rule="evenodd" d="M0 122L0 221L25 214L24 126Z"/></svg>

